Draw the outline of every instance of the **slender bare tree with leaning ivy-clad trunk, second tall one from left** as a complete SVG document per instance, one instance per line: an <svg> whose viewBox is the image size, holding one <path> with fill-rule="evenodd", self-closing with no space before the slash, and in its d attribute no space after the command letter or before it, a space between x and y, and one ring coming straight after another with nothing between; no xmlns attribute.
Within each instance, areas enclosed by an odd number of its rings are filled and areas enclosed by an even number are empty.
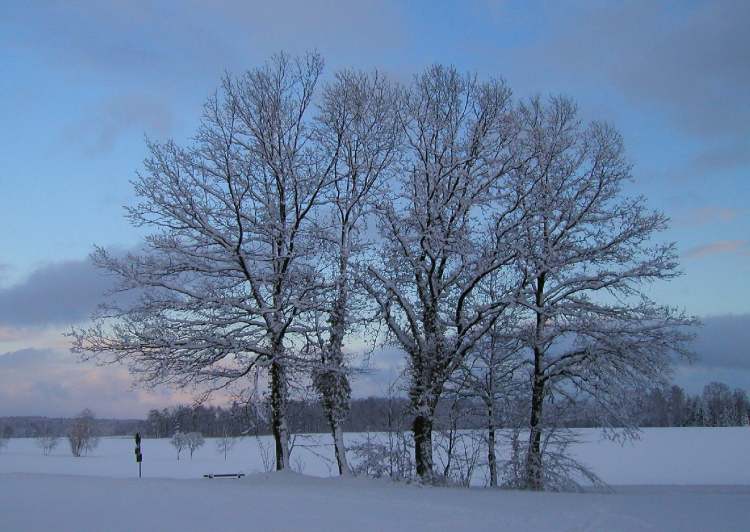
<svg viewBox="0 0 750 532"><path fill-rule="evenodd" d="M341 424L349 411L351 388L343 347L361 319L354 293L352 262L362 256L366 215L397 154L396 92L379 74L344 71L326 87L321 106L320 138L335 160L326 246L331 290L326 294L327 325L316 329L320 364L313 382L333 436L341 475L349 474Z"/></svg>

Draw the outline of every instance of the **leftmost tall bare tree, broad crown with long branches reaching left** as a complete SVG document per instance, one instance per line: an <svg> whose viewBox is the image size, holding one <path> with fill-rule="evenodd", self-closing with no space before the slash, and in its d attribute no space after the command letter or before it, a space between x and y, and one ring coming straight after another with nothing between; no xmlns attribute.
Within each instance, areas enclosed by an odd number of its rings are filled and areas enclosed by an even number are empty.
<svg viewBox="0 0 750 532"><path fill-rule="evenodd" d="M192 145L149 144L128 209L153 230L146 249L93 256L139 297L73 331L74 351L125 362L146 384L210 393L267 371L277 469L289 465L293 337L324 284L314 215L333 161L308 117L322 68L317 54L282 54L227 77Z"/></svg>

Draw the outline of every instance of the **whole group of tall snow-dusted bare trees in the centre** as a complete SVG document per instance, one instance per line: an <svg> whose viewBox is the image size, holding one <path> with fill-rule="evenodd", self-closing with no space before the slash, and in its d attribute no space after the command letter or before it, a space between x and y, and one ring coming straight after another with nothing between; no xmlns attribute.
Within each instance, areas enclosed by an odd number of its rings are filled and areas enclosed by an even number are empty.
<svg viewBox="0 0 750 532"><path fill-rule="evenodd" d="M128 209L151 230L143 251L93 254L137 298L103 306L74 350L148 385L263 377L277 469L308 383L350 471L349 358L368 342L405 354L424 481L446 394L486 406L493 485L497 427L526 431L534 489L565 404L593 400L632 428L628 391L666 378L692 320L647 297L676 253L653 243L664 216L625 194L617 131L451 67L408 85L322 72L315 53L275 56L223 80L193 142L149 144Z"/></svg>

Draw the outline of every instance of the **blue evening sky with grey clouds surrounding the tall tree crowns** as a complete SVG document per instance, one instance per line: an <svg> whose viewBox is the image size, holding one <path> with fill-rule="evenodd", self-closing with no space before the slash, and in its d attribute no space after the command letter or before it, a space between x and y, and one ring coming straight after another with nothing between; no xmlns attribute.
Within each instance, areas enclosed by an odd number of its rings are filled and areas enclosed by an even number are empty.
<svg viewBox="0 0 750 532"><path fill-rule="evenodd" d="M313 48L327 75L378 68L407 81L430 63L452 63L503 77L520 97L570 95L584 118L613 122L634 164L631 192L672 218L664 238L682 254L685 275L652 295L745 330L749 20L743 1L5 2L0 357L37 350L42 369L52 351L60 364L70 357L60 331L85 319L104 286L85 263L92 245L131 248L142 236L122 206L132 201L144 135L185 140L222 72ZM716 343L704 334L706 346ZM740 340L726 347L729 369L719 353L678 377L697 387L716 375L750 388ZM98 371L115 378L114 369ZM65 408L88 406L76 403L85 394L69 396ZM16 406L49 410L33 397ZM132 412L101 409L137 414L151 400L139 397ZM164 392L153 398L162 400Z"/></svg>

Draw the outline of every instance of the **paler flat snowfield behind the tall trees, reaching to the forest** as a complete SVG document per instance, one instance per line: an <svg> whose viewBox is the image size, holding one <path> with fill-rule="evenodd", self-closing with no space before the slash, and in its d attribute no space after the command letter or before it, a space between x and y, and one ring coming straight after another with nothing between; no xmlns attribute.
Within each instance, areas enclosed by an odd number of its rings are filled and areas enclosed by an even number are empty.
<svg viewBox="0 0 750 532"><path fill-rule="evenodd" d="M653 428L640 440L620 443L604 440L595 429L581 429L583 443L573 452L592 471L613 486L623 485L747 485L750 486L750 428ZM363 435L349 434L350 441ZM299 437L292 451L297 472L313 476L334 473L333 450L326 435ZM265 436L238 440L225 462L216 441L206 444L190 459L182 451L178 462L168 439L144 439L143 473L148 478L201 478L222 471L264 472L259 447L272 460L273 442ZM45 473L132 478L137 475L132 438L103 438L94 452L82 458L70 454L62 440L50 456L43 456L34 440L12 439L0 451L0 473ZM503 452L499 450L500 457ZM475 478L483 484L480 471Z"/></svg>

